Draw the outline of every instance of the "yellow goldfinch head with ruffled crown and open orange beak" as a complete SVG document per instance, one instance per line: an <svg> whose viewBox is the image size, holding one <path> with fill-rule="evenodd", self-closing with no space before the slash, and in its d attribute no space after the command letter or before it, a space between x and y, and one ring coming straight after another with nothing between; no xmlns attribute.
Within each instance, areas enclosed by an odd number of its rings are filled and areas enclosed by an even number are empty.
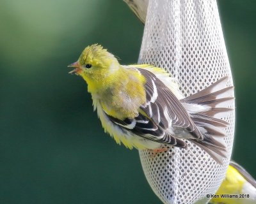
<svg viewBox="0 0 256 204"><path fill-rule="evenodd" d="M76 73L86 80L88 85L97 85L118 70L120 64L115 56L101 45L90 45L84 48L79 59L68 65L75 68L69 73Z"/></svg>

